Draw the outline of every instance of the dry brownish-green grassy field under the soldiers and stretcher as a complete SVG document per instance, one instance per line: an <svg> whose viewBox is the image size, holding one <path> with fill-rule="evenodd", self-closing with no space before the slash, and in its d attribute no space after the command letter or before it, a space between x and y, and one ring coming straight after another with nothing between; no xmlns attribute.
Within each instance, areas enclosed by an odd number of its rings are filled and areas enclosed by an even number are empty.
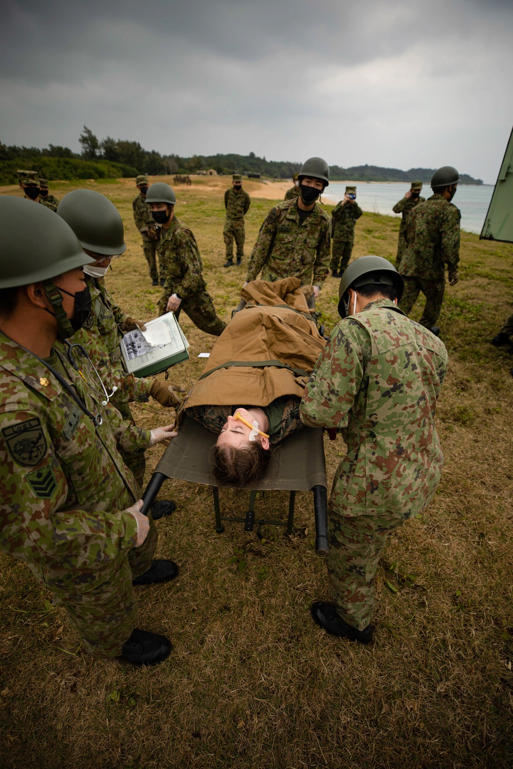
<svg viewBox="0 0 513 769"><path fill-rule="evenodd" d="M222 268L228 183L178 186L175 209L195 232L226 321L247 264ZM129 314L152 318L160 289L148 279L133 223L133 181L87 186L108 195L125 220L128 251L108 286ZM257 181L245 187L265 194ZM270 205L252 203L246 255ZM355 255L393 258L398 225L365 213ZM440 318L451 361L438 408L445 468L425 514L389 538L371 647L328 637L311 621L311 602L328 589L310 494L298 494L292 538L270 528L260 541L240 524L215 534L208 488L166 481L160 496L178 510L157 524L158 555L178 561L181 574L137 588L139 626L174 644L164 664L140 670L82 654L65 612L25 564L0 558L0 766L511 767L513 358L488 340L511 314L512 257L511 245L462 234L461 281L448 288ZM319 301L328 329L337 321L337 283L328 278ZM181 321L191 360L175 367L172 381L188 386L213 338ZM155 401L134 414L146 426L168 421ZM338 438L325 448L332 478L345 447ZM160 454L148 451L148 478ZM243 514L247 496L225 492L222 503ZM285 492L258 506L285 517Z"/></svg>

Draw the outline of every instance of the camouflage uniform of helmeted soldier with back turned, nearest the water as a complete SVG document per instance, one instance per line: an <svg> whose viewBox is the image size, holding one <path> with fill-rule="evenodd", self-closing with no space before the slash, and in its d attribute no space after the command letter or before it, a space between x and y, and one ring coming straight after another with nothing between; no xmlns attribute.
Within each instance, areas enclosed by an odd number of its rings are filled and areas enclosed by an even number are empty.
<svg viewBox="0 0 513 769"><path fill-rule="evenodd" d="M431 195L408 216L408 248L401 259L400 270L405 279L401 310L409 315L422 291L426 304L420 322L426 328L432 328L440 315L445 264L450 272L458 269L460 219L459 209L443 195Z"/></svg>

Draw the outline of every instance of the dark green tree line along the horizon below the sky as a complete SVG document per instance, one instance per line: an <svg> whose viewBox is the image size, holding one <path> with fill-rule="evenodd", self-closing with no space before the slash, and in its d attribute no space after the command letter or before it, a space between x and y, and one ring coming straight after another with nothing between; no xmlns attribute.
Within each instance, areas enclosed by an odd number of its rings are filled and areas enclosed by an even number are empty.
<svg viewBox="0 0 513 769"><path fill-rule="evenodd" d="M255 152L248 155L161 155L155 150L145 150L138 141L115 139L106 136L99 139L86 125L78 138L82 153L68 147L49 145L48 148L6 146L0 142L0 184L15 184L16 171L26 168L38 171L47 179L87 179L134 177L138 174L194 174L213 168L218 174L233 174L252 171L275 179L291 178L301 168L301 163L266 160ZM351 179L354 181L420 181L429 182L434 168L381 168L378 165L356 165L342 168L332 165L332 181ZM481 185L481 179L468 174L461 175L464 184Z"/></svg>

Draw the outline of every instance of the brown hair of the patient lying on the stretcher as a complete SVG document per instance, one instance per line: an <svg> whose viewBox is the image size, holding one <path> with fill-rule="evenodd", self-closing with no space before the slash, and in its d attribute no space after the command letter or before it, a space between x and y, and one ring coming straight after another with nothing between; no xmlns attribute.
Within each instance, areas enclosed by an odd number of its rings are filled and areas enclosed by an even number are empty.
<svg viewBox="0 0 513 769"><path fill-rule="evenodd" d="M271 451L258 441L248 442L246 448L215 445L211 451L212 475L220 486L242 488L260 480L270 458Z"/></svg>

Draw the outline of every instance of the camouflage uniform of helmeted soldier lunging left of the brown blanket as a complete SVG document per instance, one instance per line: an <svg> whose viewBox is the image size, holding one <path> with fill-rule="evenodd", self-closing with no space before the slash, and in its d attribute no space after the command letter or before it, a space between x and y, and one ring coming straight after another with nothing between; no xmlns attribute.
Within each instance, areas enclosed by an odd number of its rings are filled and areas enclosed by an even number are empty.
<svg viewBox="0 0 513 769"><path fill-rule="evenodd" d="M168 299L176 294L182 299L175 311L177 320L183 310L202 331L219 336L226 324L218 318L212 297L208 294L202 275L202 258L192 231L175 216L168 228L159 229L157 252L161 271L165 275L164 292L158 303L159 315L167 312Z"/></svg>

